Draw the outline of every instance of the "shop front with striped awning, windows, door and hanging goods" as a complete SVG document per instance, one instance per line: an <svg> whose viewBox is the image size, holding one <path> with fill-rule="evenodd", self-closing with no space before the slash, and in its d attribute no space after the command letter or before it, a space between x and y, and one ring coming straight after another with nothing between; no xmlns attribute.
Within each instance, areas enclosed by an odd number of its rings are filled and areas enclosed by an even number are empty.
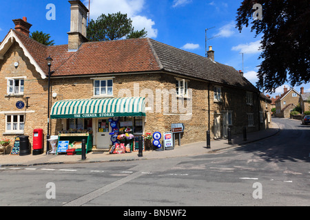
<svg viewBox="0 0 310 220"><path fill-rule="evenodd" d="M92 144L97 149L124 148L118 149L118 153L134 151L134 136L143 135L145 116L145 98L61 100L54 103L51 111L52 119L62 120L62 136L92 133ZM81 142L76 137L72 137L70 144L74 140Z"/></svg>

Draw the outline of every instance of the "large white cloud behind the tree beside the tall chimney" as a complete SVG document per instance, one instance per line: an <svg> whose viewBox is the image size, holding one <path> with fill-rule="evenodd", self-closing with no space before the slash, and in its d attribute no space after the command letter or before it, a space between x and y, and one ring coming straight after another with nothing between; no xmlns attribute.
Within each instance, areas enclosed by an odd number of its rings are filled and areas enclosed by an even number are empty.
<svg viewBox="0 0 310 220"><path fill-rule="evenodd" d="M84 0L84 4L88 7L88 1ZM145 28L148 37L156 38L158 30L153 27L155 22L140 14L143 12L144 5L145 0L92 0L90 18L96 20L101 14L121 12L132 19L134 30Z"/></svg>

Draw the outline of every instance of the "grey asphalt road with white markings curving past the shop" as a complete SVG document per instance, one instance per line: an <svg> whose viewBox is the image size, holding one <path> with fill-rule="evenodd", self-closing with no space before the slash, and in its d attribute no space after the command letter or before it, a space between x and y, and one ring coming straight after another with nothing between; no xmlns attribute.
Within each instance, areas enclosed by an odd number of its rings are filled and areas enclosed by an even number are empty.
<svg viewBox="0 0 310 220"><path fill-rule="evenodd" d="M217 153L0 169L0 206L310 206L310 126Z"/></svg>

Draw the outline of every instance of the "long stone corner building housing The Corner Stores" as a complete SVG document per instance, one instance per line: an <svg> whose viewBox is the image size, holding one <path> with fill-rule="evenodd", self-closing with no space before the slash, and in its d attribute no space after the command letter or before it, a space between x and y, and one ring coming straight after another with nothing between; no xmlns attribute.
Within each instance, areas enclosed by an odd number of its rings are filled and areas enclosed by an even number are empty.
<svg viewBox="0 0 310 220"><path fill-rule="evenodd" d="M134 135L170 131L183 123L183 144L266 129L269 98L209 48L198 56L153 39L87 42L87 8L69 1L68 45L45 46L29 38L27 19L13 20L0 44L0 136L92 132L97 148L109 148L110 118L132 126ZM19 106L17 103L21 103ZM121 125L122 126L122 125Z"/></svg>

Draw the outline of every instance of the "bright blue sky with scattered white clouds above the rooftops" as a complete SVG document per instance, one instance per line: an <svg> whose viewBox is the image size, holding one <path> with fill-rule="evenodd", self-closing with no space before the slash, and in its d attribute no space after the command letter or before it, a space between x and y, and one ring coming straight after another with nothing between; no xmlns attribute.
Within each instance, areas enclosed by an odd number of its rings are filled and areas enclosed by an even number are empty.
<svg viewBox="0 0 310 220"><path fill-rule="evenodd" d="M88 0L82 0L88 8ZM55 19L48 20L52 3ZM178 47L200 56L205 56L205 29L210 45L215 51L215 61L242 70L244 54L245 77L256 85L258 56L261 36L254 38L250 28L238 32L236 12L241 0L90 0L90 16L96 19L100 14L121 11L132 19L136 30L145 28L148 37ZM32 24L31 32L43 31L51 35L56 45L68 44L70 31L70 3L67 0L10 0L1 3L0 41L10 28L12 19L27 17ZM289 87L289 83L285 85ZM301 85L310 92L310 85ZM295 87L299 92L300 87ZM283 86L276 94L283 92ZM271 96L276 96L272 94Z"/></svg>

